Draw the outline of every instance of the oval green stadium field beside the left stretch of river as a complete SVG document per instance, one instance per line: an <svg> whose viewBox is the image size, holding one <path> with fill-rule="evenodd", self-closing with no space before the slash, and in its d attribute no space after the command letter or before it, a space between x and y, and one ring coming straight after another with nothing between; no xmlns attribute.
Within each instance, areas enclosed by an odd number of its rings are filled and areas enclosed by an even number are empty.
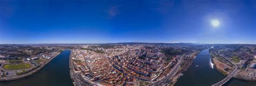
<svg viewBox="0 0 256 86"><path fill-rule="evenodd" d="M4 64L3 68L6 70L20 70L20 69L28 69L31 65L29 63L10 63Z"/></svg>

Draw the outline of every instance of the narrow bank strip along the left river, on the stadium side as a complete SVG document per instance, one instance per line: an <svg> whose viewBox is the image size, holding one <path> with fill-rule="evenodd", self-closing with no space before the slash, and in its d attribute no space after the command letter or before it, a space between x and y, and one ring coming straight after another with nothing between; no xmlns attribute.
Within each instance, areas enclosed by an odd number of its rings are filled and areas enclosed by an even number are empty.
<svg viewBox="0 0 256 86"><path fill-rule="evenodd" d="M18 80L20 78L24 78L24 77L28 77L34 73L36 73L37 71L41 70L43 67L46 66L46 64L48 64L49 62L51 62L51 60L53 60L54 58L56 58L60 53L56 54L56 56L53 56L53 58L49 59L48 61L46 61L43 65L41 65L40 67L36 68L35 70L30 71L29 73L23 74L23 75L19 75L19 76L6 76L6 77L2 77L0 78L1 82L6 82L6 81L14 81L14 80Z"/></svg>

